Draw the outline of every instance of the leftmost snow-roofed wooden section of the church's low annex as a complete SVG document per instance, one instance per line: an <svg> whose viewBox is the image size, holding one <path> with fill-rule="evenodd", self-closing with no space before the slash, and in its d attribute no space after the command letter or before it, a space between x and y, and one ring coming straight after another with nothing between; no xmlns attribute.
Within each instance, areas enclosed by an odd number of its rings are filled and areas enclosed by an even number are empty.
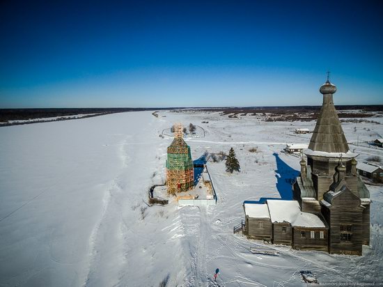
<svg viewBox="0 0 383 287"><path fill-rule="evenodd" d="M272 240L272 222L267 204L244 203L245 228L247 238Z"/></svg>

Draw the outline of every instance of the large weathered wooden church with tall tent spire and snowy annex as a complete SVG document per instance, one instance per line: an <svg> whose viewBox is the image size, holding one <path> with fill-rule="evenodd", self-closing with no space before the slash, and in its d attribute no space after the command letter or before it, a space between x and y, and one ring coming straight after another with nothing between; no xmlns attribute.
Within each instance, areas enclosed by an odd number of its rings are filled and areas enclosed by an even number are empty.
<svg viewBox="0 0 383 287"><path fill-rule="evenodd" d="M336 86L327 78L320 93L323 104L304 150L307 162L302 157L301 174L293 185L295 200L244 203L244 233L295 249L361 255L362 245L370 244L370 193L336 114Z"/></svg>

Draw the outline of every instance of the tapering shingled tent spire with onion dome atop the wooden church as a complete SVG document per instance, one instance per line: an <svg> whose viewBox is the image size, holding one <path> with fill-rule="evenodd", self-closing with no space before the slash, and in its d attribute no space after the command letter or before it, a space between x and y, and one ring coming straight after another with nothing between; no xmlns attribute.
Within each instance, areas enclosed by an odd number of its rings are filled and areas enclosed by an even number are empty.
<svg viewBox="0 0 383 287"><path fill-rule="evenodd" d="M320 87L323 104L308 148L326 153L347 153L348 144L333 102L336 86L329 80Z"/></svg>

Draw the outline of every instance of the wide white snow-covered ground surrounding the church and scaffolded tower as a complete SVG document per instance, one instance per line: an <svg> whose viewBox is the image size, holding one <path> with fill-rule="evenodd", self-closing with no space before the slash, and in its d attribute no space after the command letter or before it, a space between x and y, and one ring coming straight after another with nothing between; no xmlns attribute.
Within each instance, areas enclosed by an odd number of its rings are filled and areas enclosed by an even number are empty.
<svg viewBox="0 0 383 287"><path fill-rule="evenodd" d="M363 256L281 245L267 245L279 256L251 254L263 242L233 234L244 218L243 201L291 198L286 180L297 176L299 158L281 150L308 143L311 134L293 131L313 130L315 121L158 114L0 127L0 286L306 286L302 270L321 283L383 282L382 186L368 185L371 243ZM342 124L361 162L383 158L382 149L359 144L383 135L383 118L371 119L382 125ZM217 205L146 205L150 186L164 182L172 141L159 134L177 122L205 129L205 137L186 139L194 160L230 147L237 154L241 173L208 162Z"/></svg>

